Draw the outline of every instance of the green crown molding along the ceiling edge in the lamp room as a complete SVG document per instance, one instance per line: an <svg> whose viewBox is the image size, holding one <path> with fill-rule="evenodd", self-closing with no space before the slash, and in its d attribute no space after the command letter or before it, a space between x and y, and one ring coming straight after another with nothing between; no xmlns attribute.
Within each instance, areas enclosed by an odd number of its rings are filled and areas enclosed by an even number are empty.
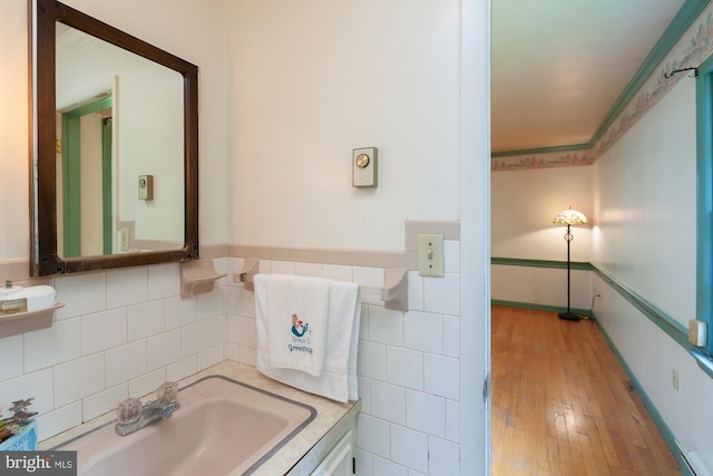
<svg viewBox="0 0 713 476"><path fill-rule="evenodd" d="M557 147L541 147L521 150L495 152L491 158L515 157L519 155L549 154L570 150L593 149L604 137L604 134L614 124L616 118L624 111L634 96L644 86L648 77L656 70L656 67L665 59L666 55L681 40L686 30L699 18L701 12L711 0L686 0L676 16L673 18L664 33L661 36L654 48L651 50L642 66L638 68L632 80L626 85L624 91L618 97L614 106L609 109L604 120L586 144L573 144Z"/></svg>

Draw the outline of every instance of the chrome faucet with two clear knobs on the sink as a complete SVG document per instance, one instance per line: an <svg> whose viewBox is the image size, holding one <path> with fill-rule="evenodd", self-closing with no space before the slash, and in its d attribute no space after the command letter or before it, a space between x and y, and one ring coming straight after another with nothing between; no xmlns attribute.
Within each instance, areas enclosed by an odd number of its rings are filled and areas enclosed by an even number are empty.
<svg viewBox="0 0 713 476"><path fill-rule="evenodd" d="M127 398L117 408L116 433L126 436L158 420L165 420L179 407L176 398L178 383L162 383L156 389L156 400L141 405L138 398Z"/></svg>

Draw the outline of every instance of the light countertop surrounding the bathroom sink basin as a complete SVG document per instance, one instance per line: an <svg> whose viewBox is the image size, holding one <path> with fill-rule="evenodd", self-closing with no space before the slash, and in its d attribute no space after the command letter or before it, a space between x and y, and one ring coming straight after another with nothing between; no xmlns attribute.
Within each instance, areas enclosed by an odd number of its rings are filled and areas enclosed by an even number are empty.
<svg viewBox="0 0 713 476"><path fill-rule="evenodd" d="M255 475L309 475L320 459L341 437L349 419L354 417L361 407L360 401L339 404L323 397L306 394L293 387L285 386L263 376L256 368L244 363L225 360L202 372L180 380L183 388L196 380L208 376L223 376L260 389L280 395L292 400L314 407L316 418L300 434L287 441L275 455L260 466ZM118 401L117 401L118 405ZM49 449L86 431L105 425L116 418L114 411L71 428L39 444L39 449Z"/></svg>

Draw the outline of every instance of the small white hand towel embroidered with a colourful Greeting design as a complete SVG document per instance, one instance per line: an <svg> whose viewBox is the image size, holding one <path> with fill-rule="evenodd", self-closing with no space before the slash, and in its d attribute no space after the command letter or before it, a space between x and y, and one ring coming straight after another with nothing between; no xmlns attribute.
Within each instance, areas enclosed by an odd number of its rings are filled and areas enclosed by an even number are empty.
<svg viewBox="0 0 713 476"><path fill-rule="evenodd" d="M330 280L267 275L270 365L319 377L324 367Z"/></svg>

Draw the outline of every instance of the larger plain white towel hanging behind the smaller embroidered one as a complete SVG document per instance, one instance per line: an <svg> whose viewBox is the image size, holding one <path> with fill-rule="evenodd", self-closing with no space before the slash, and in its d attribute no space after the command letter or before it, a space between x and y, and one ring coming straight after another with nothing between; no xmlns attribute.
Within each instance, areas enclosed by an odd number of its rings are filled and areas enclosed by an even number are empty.
<svg viewBox="0 0 713 476"><path fill-rule="evenodd" d="M332 281L328 317L324 367L320 377L270 365L270 328L265 319L267 309L266 276L256 275L255 315L257 324L257 369L265 376L311 394L345 402L359 398L356 351L361 307L359 285Z"/></svg>

